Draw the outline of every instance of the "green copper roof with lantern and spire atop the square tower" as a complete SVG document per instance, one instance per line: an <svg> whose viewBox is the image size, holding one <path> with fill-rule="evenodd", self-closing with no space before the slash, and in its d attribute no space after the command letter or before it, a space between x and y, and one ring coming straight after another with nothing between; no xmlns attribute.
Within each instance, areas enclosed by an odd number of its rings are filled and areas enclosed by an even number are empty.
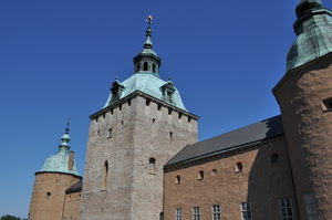
<svg viewBox="0 0 332 220"><path fill-rule="evenodd" d="M184 106L180 94L174 86L173 82L170 80L166 82L160 78L158 74L160 57L158 57L157 53L153 50L151 38L152 30L151 27L148 27L146 30L146 41L144 43L144 50L133 59L134 65L136 66L135 74L122 83L118 82L117 78L115 78L104 108L136 91L141 91L157 99L188 112ZM144 70L143 66L145 63L148 63L148 65L155 65L155 70L153 67ZM169 85L172 85L172 90L168 88ZM165 91L166 88L167 91ZM172 95L172 98L169 98L169 94Z"/></svg>

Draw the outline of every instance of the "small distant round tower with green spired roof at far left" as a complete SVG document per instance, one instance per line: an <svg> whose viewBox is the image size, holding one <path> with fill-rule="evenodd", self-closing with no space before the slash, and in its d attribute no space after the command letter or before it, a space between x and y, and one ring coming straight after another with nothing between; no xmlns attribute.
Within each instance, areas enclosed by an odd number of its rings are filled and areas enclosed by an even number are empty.
<svg viewBox="0 0 332 220"><path fill-rule="evenodd" d="M65 190L77 184L79 175L74 153L69 153L69 128L61 137L56 155L50 156L40 171L35 172L29 220L62 219Z"/></svg>

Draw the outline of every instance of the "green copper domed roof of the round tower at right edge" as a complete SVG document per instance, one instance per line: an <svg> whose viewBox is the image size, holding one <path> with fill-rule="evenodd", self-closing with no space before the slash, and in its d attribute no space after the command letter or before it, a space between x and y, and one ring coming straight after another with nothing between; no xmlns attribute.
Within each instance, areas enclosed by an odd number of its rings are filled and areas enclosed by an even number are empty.
<svg viewBox="0 0 332 220"><path fill-rule="evenodd" d="M332 52L332 11L321 0L301 0L293 24L298 39L287 54L287 72Z"/></svg>

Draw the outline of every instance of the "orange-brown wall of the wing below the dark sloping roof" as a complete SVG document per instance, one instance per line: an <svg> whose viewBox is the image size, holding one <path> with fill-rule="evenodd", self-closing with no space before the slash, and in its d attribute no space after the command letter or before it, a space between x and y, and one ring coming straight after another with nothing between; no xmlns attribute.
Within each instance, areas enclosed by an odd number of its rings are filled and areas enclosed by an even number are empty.
<svg viewBox="0 0 332 220"><path fill-rule="evenodd" d="M272 155L279 156L279 163L271 163ZM242 164L241 171L237 163ZM199 171L204 171L203 179ZM194 207L200 208L200 219L211 219L214 205L221 206L222 220L241 219L241 202L251 202L253 219L280 220L280 198L291 198L294 219L298 219L282 137L166 167L164 190L165 220L174 220L177 208L183 209L183 220L191 220Z"/></svg>

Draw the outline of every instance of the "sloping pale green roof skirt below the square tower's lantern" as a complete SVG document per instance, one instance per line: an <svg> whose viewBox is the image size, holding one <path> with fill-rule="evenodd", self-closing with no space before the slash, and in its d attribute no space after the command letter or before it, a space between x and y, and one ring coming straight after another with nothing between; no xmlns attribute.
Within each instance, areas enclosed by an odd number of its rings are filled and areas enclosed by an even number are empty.
<svg viewBox="0 0 332 220"><path fill-rule="evenodd" d="M169 81L163 81L158 75L154 74L153 72L139 71L138 73L132 75L129 78L121 83L121 85L123 85L124 88L118 99L122 99L123 97L134 93L135 91L141 91L157 99L164 101L170 105L174 105L183 111L188 112L184 106L180 94L176 90L176 87L174 87L175 92L173 94L173 103L169 103L164 98L162 87L167 83L169 83ZM112 99L112 93L110 93L110 96L104 107L107 107L108 105L113 104L114 102L111 102Z"/></svg>

